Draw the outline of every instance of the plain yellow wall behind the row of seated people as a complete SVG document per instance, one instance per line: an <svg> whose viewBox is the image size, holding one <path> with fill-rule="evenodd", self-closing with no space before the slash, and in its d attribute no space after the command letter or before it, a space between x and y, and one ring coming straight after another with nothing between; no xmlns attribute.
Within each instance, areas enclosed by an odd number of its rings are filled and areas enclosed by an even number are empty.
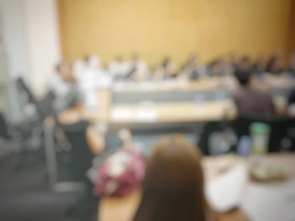
<svg viewBox="0 0 295 221"><path fill-rule="evenodd" d="M152 66L207 61L231 50L251 56L287 49L291 0L59 0L64 58L103 63L134 51Z"/></svg>

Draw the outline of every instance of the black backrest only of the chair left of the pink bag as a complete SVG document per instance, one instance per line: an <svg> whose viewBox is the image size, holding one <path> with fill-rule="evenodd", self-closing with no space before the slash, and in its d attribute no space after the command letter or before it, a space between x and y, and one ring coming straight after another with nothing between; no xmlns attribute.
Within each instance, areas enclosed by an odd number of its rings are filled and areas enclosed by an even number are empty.
<svg viewBox="0 0 295 221"><path fill-rule="evenodd" d="M71 125L59 125L68 142L72 145L70 169L74 181L87 181L86 172L91 167L94 157L86 140L88 126L89 122L87 121L80 121Z"/></svg>

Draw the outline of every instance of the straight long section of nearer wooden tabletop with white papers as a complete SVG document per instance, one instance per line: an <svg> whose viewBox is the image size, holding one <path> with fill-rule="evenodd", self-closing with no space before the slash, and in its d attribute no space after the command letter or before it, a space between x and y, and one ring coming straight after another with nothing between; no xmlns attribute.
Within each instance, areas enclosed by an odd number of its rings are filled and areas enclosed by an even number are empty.
<svg viewBox="0 0 295 221"><path fill-rule="evenodd" d="M199 121L214 121L234 118L235 106L231 101L204 102L196 105L194 102L164 103L164 104L128 104L113 105L110 114L110 123L185 123ZM116 112L124 115L116 116ZM125 113L124 113L125 112ZM228 113L228 114L226 114ZM141 117L141 115L151 115Z"/></svg>

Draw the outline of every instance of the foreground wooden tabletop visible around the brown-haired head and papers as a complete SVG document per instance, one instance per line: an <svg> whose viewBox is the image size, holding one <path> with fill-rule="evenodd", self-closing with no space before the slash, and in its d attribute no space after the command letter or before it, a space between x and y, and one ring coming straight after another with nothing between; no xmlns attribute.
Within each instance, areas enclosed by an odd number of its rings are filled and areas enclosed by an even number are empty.
<svg viewBox="0 0 295 221"><path fill-rule="evenodd" d="M237 158L238 161L249 162L246 158ZM263 159L267 163L282 165L287 169L289 177L295 178L295 154L270 154ZM206 157L202 162L207 181L214 180L220 175L220 160L216 157ZM135 190L122 198L103 198L99 203L99 221L132 221L137 209L141 191ZM249 219L240 210L235 209L229 213L217 214L217 221L248 221Z"/></svg>

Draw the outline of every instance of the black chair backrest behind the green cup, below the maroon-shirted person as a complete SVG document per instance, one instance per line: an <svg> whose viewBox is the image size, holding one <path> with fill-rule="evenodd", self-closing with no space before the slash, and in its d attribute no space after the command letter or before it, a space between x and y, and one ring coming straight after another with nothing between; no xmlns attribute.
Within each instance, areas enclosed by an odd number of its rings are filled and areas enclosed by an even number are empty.
<svg viewBox="0 0 295 221"><path fill-rule="evenodd" d="M251 123L260 122L270 126L270 136L268 140L268 152L279 152L281 150L281 142L287 137L287 130L291 126L292 120L288 118L272 118L266 119L261 117L242 115L238 116L233 122L233 129L238 138L241 136L249 136L249 126Z"/></svg>

